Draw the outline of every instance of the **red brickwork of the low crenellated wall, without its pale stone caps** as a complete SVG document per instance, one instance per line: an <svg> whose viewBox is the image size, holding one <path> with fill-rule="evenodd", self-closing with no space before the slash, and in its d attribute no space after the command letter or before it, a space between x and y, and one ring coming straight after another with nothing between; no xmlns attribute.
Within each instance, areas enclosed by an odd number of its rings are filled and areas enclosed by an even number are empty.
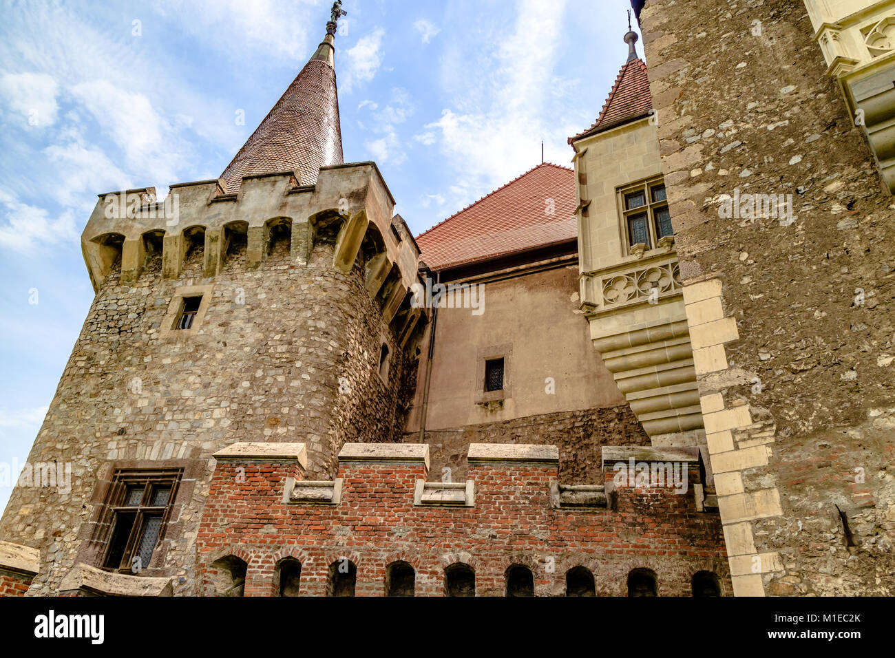
<svg viewBox="0 0 895 658"><path fill-rule="evenodd" d="M415 569L416 595L444 594L444 569L456 562L475 570L477 595L503 595L512 564L532 568L538 595L565 594L566 572L578 565L592 570L598 595L626 594L633 568L652 569L660 595L689 595L700 570L716 572L730 594L719 518L695 508L698 469L686 495L623 486L608 508L570 509L551 507L556 458L477 460L468 470L473 506L447 508L414 505L425 459L343 460L337 505L283 501L286 478L301 479L294 461L219 461L196 541L205 593L213 592L211 565L234 555L248 564L246 595L275 594L285 557L301 562L302 595L326 594L328 569L342 558L356 565L357 595L383 595L396 560ZM608 465L607 480L613 476Z"/></svg>

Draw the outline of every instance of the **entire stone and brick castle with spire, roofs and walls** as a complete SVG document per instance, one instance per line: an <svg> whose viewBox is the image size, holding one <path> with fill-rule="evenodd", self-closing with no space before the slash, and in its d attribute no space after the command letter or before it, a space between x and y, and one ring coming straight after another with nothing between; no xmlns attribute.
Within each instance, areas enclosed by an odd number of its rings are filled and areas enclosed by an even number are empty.
<svg viewBox="0 0 895 658"><path fill-rule="evenodd" d="M573 167L422 235L340 3L217 180L100 194L0 594L891 594L895 0L632 5Z"/></svg>

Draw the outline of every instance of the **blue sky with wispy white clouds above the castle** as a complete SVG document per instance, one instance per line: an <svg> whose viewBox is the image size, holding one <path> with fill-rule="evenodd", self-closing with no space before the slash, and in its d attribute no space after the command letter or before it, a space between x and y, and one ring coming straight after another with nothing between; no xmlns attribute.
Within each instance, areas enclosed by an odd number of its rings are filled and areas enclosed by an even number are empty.
<svg viewBox="0 0 895 658"><path fill-rule="evenodd" d="M96 195L217 178L331 4L0 0L0 463L27 458L90 307L79 236ZM379 164L414 234L539 164L541 140L569 166L566 138L625 61L629 6L345 0L345 162Z"/></svg>

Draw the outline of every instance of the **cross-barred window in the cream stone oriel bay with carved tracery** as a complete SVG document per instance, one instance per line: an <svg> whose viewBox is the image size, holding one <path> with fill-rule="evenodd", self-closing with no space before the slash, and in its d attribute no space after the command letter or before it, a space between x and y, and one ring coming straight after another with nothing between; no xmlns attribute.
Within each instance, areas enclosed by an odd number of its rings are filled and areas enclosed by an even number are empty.
<svg viewBox="0 0 895 658"><path fill-rule="evenodd" d="M661 176L619 187L616 192L624 255L642 256L673 243L674 229Z"/></svg>

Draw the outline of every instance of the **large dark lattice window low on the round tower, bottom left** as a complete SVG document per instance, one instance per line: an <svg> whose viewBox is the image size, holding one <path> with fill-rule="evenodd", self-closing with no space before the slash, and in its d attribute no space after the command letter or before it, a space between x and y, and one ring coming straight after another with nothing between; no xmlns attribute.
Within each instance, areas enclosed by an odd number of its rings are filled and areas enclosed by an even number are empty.
<svg viewBox="0 0 895 658"><path fill-rule="evenodd" d="M116 471L107 505L112 536L103 567L124 573L149 568L181 471Z"/></svg>

